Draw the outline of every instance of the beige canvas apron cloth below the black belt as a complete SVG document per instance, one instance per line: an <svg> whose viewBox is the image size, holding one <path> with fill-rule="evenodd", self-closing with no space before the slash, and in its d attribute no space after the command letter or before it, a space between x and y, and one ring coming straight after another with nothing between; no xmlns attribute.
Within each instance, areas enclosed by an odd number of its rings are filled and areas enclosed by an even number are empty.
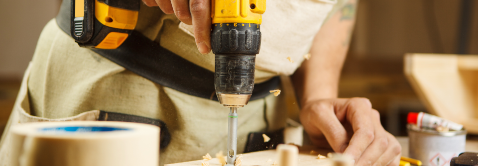
<svg viewBox="0 0 478 166"><path fill-rule="evenodd" d="M284 127L288 106L279 101L285 100L286 94L293 98L293 92L284 91L278 97L271 94L238 109L238 153L242 153L249 132L265 130L265 119L268 131ZM294 104L298 110L293 101L291 105ZM206 153L227 149L227 107L152 83L89 49L80 48L52 20L40 35L2 135L1 166L9 165L12 125L96 120L99 110L164 121L171 142L160 152L160 165L200 160Z"/></svg>

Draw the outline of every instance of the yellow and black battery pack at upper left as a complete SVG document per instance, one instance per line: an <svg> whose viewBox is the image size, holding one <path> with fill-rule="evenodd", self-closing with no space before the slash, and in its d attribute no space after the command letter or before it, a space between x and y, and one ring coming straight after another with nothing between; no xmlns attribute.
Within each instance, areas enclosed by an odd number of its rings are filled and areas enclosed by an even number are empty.
<svg viewBox="0 0 478 166"><path fill-rule="evenodd" d="M136 26L139 0L71 0L70 35L81 47L116 49Z"/></svg>

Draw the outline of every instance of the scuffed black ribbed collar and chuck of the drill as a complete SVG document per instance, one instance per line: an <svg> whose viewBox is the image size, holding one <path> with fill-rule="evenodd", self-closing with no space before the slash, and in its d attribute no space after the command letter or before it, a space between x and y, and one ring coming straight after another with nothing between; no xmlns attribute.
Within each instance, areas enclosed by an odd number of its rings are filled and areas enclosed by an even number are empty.
<svg viewBox="0 0 478 166"><path fill-rule="evenodd" d="M216 23L211 31L211 47L216 55L216 93L252 94L255 55L259 53L259 24Z"/></svg>

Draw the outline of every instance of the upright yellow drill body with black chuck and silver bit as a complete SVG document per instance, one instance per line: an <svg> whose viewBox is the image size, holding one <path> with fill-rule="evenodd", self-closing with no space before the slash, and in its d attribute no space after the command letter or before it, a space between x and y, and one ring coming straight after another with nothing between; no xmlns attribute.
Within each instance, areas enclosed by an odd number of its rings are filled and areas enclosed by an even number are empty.
<svg viewBox="0 0 478 166"><path fill-rule="evenodd" d="M212 0L211 47L215 54L214 86L219 102L230 107L227 166L237 149L237 108L254 88L255 55L260 49L260 24L265 0Z"/></svg>

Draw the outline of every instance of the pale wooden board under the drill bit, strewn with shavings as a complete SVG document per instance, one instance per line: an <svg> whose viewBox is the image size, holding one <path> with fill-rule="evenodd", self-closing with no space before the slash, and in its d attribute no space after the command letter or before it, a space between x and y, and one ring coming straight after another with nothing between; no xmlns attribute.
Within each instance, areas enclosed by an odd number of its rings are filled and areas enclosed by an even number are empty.
<svg viewBox="0 0 478 166"><path fill-rule="evenodd" d="M317 155L321 154L327 156L327 153L332 150L314 150L316 153L310 154L310 148L301 148L299 151L298 166L332 166L330 159L317 159ZM275 150L259 151L242 154L241 166L271 166L277 160L277 154ZM169 164L165 166L201 166L203 160ZM206 161L209 162L209 166L221 166L217 158Z"/></svg>

